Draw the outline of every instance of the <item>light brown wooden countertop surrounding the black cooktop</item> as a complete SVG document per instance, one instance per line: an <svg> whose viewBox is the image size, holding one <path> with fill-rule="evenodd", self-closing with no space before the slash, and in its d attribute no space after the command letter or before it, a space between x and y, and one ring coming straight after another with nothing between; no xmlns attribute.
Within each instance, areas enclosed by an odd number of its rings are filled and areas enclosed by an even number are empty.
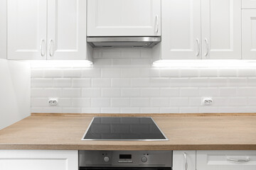
<svg viewBox="0 0 256 170"><path fill-rule="evenodd" d="M153 118L169 141L81 141L92 116L37 115L0 130L0 149L256 150L255 115Z"/></svg>

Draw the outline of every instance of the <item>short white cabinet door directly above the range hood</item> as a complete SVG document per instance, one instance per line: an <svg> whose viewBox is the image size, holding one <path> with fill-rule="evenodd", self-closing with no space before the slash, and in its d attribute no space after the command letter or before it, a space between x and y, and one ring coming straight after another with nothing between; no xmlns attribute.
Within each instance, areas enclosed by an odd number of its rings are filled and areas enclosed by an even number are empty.
<svg viewBox="0 0 256 170"><path fill-rule="evenodd" d="M88 0L87 36L161 35L161 0Z"/></svg>

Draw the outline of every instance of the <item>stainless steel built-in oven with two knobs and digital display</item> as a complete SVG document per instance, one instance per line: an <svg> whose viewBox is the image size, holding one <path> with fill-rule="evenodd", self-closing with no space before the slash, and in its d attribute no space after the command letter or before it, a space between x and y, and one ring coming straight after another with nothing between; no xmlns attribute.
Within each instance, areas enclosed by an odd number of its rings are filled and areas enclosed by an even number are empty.
<svg viewBox="0 0 256 170"><path fill-rule="evenodd" d="M79 151L80 170L171 170L172 151Z"/></svg>

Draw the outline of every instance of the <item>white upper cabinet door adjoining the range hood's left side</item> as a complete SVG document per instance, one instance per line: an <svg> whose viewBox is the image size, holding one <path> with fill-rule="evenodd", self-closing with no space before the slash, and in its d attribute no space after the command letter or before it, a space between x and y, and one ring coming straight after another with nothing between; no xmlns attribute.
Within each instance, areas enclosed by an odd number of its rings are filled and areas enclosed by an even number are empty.
<svg viewBox="0 0 256 170"><path fill-rule="evenodd" d="M86 0L48 0L48 60L86 59Z"/></svg>

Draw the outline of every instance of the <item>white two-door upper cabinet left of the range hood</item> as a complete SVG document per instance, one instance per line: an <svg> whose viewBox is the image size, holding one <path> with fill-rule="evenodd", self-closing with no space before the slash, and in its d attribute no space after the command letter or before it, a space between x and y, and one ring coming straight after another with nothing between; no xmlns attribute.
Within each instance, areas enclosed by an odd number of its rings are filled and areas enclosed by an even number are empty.
<svg viewBox="0 0 256 170"><path fill-rule="evenodd" d="M9 0L8 59L86 60L86 0Z"/></svg>

